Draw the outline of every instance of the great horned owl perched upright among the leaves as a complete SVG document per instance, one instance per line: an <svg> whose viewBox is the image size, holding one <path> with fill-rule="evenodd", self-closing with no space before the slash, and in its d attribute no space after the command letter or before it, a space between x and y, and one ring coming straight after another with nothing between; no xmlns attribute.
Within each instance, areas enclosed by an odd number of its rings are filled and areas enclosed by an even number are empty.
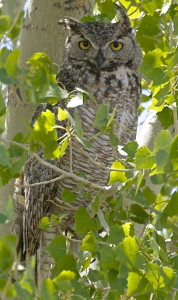
<svg viewBox="0 0 178 300"><path fill-rule="evenodd" d="M97 133L93 126L96 111L100 104L107 103L109 112L115 108L114 133L120 145L135 140L137 128L137 109L139 106L141 86L137 73L142 60L141 49L135 40L130 21L122 10L117 23L85 22L66 18L59 21L69 35L65 44L64 62L57 81L68 91L79 87L92 94L95 101L85 100L83 105L70 109L71 114L77 111L86 139ZM57 106L60 106L59 101ZM54 111L55 108L51 107ZM96 164L110 167L115 161L117 147L113 149L108 134L102 133L93 139L92 147L85 149L82 144L71 143L65 155L52 163L73 174L85 173L92 183L106 186L109 171L101 170ZM72 160L71 160L72 155ZM88 159L90 157L91 159ZM24 167L22 181L24 184L34 184L51 180L59 176L54 170L40 165L35 158L30 158ZM78 207L87 207L96 190L83 185L77 188L73 177L63 177L47 185L31 186L23 189L25 207L21 227L21 251L24 259L36 256L36 274L38 282L48 276L51 257L45 247L58 234L57 227L41 231L39 223L42 217L50 214L66 213L60 223L60 230L67 232L73 226L74 212L63 202L61 193L64 189L72 190L77 196L73 203ZM18 191L17 191L18 192ZM89 198L84 197L88 192ZM56 204L55 204L56 203ZM40 274L40 278L39 278Z"/></svg>

